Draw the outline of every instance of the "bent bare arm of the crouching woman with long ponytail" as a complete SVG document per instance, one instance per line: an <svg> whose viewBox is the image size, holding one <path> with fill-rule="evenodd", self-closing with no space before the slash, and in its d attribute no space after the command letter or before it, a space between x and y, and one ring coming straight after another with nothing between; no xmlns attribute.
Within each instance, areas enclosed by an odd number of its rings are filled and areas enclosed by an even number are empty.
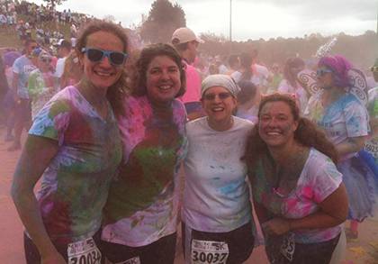
<svg viewBox="0 0 378 264"><path fill-rule="evenodd" d="M347 191L343 183L323 202L320 211L300 219L275 218L263 223L266 232L284 234L299 229L329 228L347 219Z"/></svg>

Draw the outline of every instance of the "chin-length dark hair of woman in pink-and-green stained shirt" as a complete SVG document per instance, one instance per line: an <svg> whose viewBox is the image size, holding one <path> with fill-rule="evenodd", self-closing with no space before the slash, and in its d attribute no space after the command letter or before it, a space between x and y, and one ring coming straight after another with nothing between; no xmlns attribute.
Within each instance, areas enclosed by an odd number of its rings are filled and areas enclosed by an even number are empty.
<svg viewBox="0 0 378 264"><path fill-rule="evenodd" d="M185 77L185 70L184 64L180 55L177 53L175 48L168 44L157 43L149 45L148 47L141 50L139 59L136 63L136 72L133 79L132 85L132 94L134 96L146 96L147 95L147 68L149 63L157 56L167 56L173 61L180 70L180 80L181 80L181 87L175 97L183 96L186 91L186 77Z"/></svg>

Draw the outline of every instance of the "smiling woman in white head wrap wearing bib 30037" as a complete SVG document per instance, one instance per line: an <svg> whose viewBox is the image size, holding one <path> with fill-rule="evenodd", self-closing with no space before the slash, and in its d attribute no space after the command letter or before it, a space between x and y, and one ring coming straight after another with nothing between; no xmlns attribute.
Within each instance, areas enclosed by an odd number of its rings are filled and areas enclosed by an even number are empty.
<svg viewBox="0 0 378 264"><path fill-rule="evenodd" d="M187 263L246 261L254 247L244 154L253 123L233 116L239 87L226 75L202 81L205 117L186 124L183 246Z"/></svg>

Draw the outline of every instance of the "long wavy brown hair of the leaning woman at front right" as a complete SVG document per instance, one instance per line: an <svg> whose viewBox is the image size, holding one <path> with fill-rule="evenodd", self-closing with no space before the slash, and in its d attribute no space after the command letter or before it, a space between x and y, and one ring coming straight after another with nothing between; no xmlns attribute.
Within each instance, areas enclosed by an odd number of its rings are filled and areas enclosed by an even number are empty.
<svg viewBox="0 0 378 264"><path fill-rule="evenodd" d="M293 96L284 94L272 94L264 96L258 107L258 114L261 113L264 105L270 102L284 102L290 107L294 121L298 122L298 128L294 132L294 140L300 142L303 146L313 147L321 153L329 156L333 162L338 162L338 152L335 146L327 139L326 134L322 132L315 123L309 119L300 116L300 110ZM259 116L260 117L260 116ZM247 137L247 147L244 159L249 169L254 169L257 160L265 156L268 151L266 142L263 141L258 133L258 123Z"/></svg>

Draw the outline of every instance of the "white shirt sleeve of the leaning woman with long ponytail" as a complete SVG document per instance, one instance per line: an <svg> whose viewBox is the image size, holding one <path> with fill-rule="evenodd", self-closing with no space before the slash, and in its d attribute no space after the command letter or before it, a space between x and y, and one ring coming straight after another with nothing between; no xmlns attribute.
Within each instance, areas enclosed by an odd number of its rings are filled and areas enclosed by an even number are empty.
<svg viewBox="0 0 378 264"><path fill-rule="evenodd" d="M316 171L313 171L315 175L313 181L313 198L314 201L319 204L340 186L342 174L329 158L327 158L321 166L318 164L318 166L315 167Z"/></svg>

